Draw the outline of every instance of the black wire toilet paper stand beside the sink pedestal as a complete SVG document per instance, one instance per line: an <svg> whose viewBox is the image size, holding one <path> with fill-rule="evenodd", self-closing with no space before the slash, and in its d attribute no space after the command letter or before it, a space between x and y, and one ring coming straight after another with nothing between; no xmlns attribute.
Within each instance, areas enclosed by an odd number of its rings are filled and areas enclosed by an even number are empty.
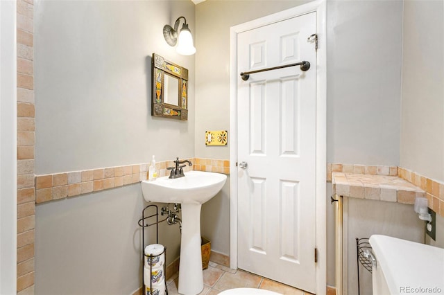
<svg viewBox="0 0 444 295"><path fill-rule="evenodd" d="M148 215L148 212L150 211L150 209L153 208L153 210L151 210L152 213L151 215ZM157 207L157 205L148 205L144 208L144 210L142 210L142 218L139 219L139 226L142 227L142 258L143 258L143 262L149 258L148 261L154 261L156 257L162 256L164 255L165 259L164 259L164 264L162 265L162 271L164 274L164 284L165 284L165 294L168 295L168 289L167 289L167 273L166 273L166 269L165 269L165 265L167 263L167 247L164 247L164 251L158 255L146 255L145 254L145 229L149 226L153 226L155 225L155 243L158 244L159 243L159 224L160 222L164 222L168 219L165 218L164 220L159 220L159 208ZM151 220L155 220L153 222L150 223ZM145 281L144 281L144 267L142 267L142 294L144 295L154 295L153 293L153 266L152 263L149 264L150 265L150 289L149 292L146 292L146 285L145 285Z"/></svg>

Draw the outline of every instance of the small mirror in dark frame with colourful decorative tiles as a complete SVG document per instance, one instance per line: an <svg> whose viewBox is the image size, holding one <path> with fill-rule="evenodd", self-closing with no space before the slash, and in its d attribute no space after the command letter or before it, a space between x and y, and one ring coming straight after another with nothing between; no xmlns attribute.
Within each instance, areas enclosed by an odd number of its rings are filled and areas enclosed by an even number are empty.
<svg viewBox="0 0 444 295"><path fill-rule="evenodd" d="M188 70L153 53L151 116L188 120Z"/></svg>

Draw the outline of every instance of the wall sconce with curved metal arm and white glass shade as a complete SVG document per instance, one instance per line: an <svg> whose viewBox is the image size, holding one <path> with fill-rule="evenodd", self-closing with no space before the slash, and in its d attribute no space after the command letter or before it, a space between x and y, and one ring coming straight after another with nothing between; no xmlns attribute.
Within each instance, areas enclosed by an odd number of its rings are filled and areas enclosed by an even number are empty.
<svg viewBox="0 0 444 295"><path fill-rule="evenodd" d="M184 20L184 24L178 31L180 19ZM174 23L174 28L170 25L164 26L164 38L170 46L176 46L176 51L181 55L193 55L196 53L196 47L193 45L193 37L191 31L188 28L187 19L185 17L179 17Z"/></svg>

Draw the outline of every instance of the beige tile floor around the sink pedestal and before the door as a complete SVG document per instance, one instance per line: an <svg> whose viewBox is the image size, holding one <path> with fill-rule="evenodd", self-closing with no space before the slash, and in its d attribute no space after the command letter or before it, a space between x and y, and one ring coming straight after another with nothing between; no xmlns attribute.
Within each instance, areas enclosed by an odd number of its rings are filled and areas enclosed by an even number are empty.
<svg viewBox="0 0 444 295"><path fill-rule="evenodd" d="M178 274L167 281L168 294L178 295ZM201 295L215 295L233 288L267 289L285 295L309 295L311 293L277 283L246 271L230 269L210 261L210 266L203 271L203 291ZM199 294L199 295L200 295Z"/></svg>

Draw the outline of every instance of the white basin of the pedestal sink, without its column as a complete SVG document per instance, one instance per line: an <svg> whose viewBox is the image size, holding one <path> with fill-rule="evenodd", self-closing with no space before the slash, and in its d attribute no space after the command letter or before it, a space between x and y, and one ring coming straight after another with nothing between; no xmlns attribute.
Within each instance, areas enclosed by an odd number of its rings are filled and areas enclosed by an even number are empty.
<svg viewBox="0 0 444 295"><path fill-rule="evenodd" d="M146 202L203 204L221 190L226 179L220 173L189 171L176 179L144 180L142 193Z"/></svg>

